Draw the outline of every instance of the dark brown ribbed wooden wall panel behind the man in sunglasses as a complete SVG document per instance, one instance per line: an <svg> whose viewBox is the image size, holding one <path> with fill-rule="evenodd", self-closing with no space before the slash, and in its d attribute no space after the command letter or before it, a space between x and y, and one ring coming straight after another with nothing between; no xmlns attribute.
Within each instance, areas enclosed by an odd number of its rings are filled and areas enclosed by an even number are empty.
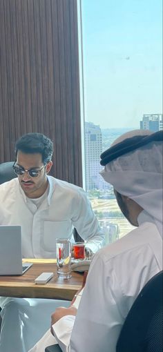
<svg viewBox="0 0 163 352"><path fill-rule="evenodd" d="M0 162L29 132L54 141L53 175L81 186L77 0L0 0Z"/></svg>

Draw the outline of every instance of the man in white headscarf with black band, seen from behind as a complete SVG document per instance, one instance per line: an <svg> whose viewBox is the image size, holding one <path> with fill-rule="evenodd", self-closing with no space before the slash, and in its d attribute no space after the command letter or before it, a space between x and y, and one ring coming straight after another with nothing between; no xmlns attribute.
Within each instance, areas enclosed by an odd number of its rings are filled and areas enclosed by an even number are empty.
<svg viewBox="0 0 163 352"><path fill-rule="evenodd" d="M70 306L52 315L62 351L115 352L137 295L162 270L162 132L126 133L101 157L102 177L137 228L93 257L78 311ZM43 342L31 351L44 351Z"/></svg>

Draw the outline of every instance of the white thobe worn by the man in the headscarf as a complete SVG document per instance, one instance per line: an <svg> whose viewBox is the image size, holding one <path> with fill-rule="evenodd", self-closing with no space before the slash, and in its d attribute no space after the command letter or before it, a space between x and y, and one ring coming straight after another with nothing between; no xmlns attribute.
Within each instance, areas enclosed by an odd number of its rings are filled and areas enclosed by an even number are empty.
<svg viewBox="0 0 163 352"><path fill-rule="evenodd" d="M146 282L162 270L162 237L153 218L143 211L138 222L138 228L94 256L77 316L62 317L53 325L62 351L116 351L133 302ZM46 344L52 344L48 333ZM44 339L30 352L44 352L41 346Z"/></svg>

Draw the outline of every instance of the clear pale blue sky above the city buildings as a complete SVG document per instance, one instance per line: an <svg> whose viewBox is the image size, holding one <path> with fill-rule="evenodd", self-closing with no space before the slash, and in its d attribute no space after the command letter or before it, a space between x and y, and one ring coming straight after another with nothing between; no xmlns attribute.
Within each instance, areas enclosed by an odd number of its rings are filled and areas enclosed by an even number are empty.
<svg viewBox="0 0 163 352"><path fill-rule="evenodd" d="M162 113L162 0L81 0L86 121L140 128Z"/></svg>

